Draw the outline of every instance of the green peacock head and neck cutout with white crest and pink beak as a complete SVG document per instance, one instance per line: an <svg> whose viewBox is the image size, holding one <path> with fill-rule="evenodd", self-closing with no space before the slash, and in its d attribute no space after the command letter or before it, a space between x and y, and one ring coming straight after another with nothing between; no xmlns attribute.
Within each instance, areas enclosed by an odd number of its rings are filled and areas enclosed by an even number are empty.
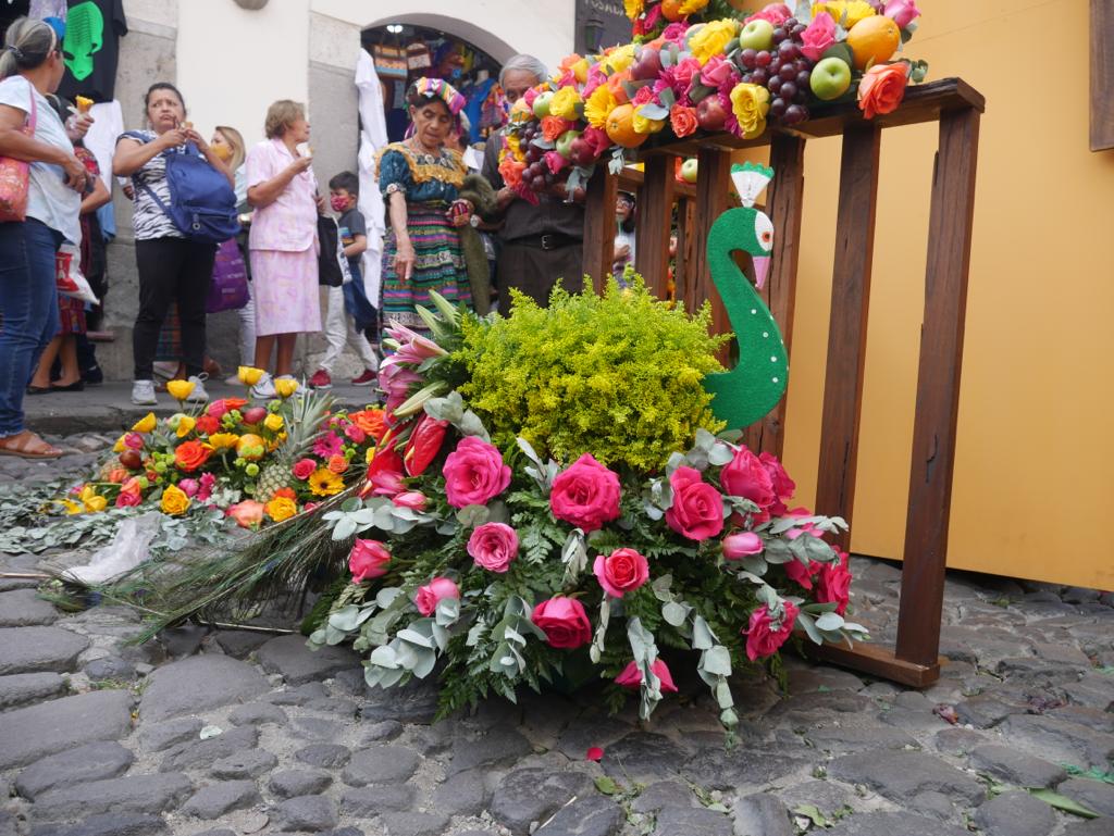
<svg viewBox="0 0 1114 836"><path fill-rule="evenodd" d="M731 177L743 206L727 209L712 224L707 260L735 332L739 363L730 372L707 375L704 389L713 395L715 416L729 429L741 430L762 420L785 394L789 356L770 308L731 257L736 250L751 256L755 283L762 289L770 269L773 223L754 208L754 200L773 178L773 169L736 164L731 167Z"/></svg>

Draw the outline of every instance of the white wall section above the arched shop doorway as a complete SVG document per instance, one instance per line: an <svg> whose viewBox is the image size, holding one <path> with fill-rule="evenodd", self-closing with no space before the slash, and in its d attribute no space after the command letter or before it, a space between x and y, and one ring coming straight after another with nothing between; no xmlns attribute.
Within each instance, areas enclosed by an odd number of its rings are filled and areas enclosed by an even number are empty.
<svg viewBox="0 0 1114 836"><path fill-rule="evenodd" d="M498 61L529 52L555 68L574 47L574 0L311 0L311 4L320 14L361 28L400 22L440 29Z"/></svg>

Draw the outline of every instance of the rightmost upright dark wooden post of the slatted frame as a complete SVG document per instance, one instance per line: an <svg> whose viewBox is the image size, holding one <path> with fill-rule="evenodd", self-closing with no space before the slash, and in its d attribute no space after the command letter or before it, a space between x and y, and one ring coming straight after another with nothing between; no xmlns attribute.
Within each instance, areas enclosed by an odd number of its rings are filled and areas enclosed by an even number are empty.
<svg viewBox="0 0 1114 836"><path fill-rule="evenodd" d="M967 311L979 112L945 114L932 174L897 657L937 658Z"/></svg>

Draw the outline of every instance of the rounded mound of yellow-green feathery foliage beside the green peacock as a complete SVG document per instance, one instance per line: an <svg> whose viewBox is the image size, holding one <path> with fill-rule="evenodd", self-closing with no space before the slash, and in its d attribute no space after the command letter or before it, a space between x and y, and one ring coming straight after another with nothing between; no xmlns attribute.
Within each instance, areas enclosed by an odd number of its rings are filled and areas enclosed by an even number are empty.
<svg viewBox="0 0 1114 836"><path fill-rule="evenodd" d="M701 386L726 340L709 336L710 318L706 305L693 317L671 308L638 276L603 296L556 289L548 309L516 293L508 318L463 321L460 393L501 449L522 436L558 461L590 452L655 469L698 427L722 429Z"/></svg>

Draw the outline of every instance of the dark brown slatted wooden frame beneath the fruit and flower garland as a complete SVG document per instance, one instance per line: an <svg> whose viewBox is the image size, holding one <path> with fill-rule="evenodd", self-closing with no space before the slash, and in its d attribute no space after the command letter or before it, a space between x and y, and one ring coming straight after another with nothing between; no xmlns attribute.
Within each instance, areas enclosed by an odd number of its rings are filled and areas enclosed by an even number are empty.
<svg viewBox="0 0 1114 836"><path fill-rule="evenodd" d="M979 120L984 109L984 98L977 90L960 79L945 79L911 87L898 110L870 121L862 118L853 104L830 105L814 108L807 122L793 128L772 127L755 140L716 135L647 146L641 153L645 174L638 206L636 265L647 286L658 295L664 295L667 281L674 158L693 154L698 157L700 180L694 198L696 223L692 225L695 240L690 250L692 264L682 263L682 254L688 247L678 242L677 296L690 309L711 299L713 327L722 332L729 330L729 323L709 275L707 233L712 222L729 205L732 151L770 146L770 164L776 175L769 188L765 208L773 220L775 238L773 262L762 295L781 325L785 348L791 350L804 194L804 146L809 139L842 137L833 304L815 505L821 513L843 517L851 522L881 134L903 125L939 124L897 645L895 648L858 645L853 649L828 645L813 651L828 661L916 687L930 685L939 677L948 512ZM588 188L584 268L596 277L597 287L602 277L610 274L617 189L617 178L604 174L597 174ZM687 277L683 293L682 275ZM746 429L747 445L756 452L780 455L784 423L783 400L760 423ZM849 538L843 537L839 544L847 549Z"/></svg>

